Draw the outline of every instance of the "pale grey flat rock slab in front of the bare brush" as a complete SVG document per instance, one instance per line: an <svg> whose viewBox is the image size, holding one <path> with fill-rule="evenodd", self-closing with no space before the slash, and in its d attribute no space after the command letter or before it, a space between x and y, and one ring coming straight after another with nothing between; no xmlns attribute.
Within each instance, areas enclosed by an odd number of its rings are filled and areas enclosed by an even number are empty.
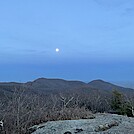
<svg viewBox="0 0 134 134"><path fill-rule="evenodd" d="M134 134L134 118L95 114L92 119L50 121L35 125L32 134Z"/></svg>

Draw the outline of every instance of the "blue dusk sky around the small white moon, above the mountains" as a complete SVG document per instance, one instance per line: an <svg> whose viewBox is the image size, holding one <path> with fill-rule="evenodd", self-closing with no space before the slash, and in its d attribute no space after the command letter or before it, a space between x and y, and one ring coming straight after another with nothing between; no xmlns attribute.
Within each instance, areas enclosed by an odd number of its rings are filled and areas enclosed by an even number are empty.
<svg viewBox="0 0 134 134"><path fill-rule="evenodd" d="M133 0L0 1L0 81L134 81L133 35Z"/></svg>

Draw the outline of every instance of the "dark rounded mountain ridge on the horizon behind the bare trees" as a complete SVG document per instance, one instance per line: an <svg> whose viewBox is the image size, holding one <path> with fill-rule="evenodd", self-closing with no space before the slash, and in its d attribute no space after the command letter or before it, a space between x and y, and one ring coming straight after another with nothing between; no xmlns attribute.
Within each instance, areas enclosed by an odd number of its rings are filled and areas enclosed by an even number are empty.
<svg viewBox="0 0 134 134"><path fill-rule="evenodd" d="M124 93L133 93L134 90L131 88L124 88L121 86L117 86L111 84L109 82L105 82L103 80L93 80L89 83L84 83L82 81L67 81L63 79L47 79L47 78L39 78L34 81L30 81L27 83L16 83L16 82L1 82L0 83L0 94L4 93L12 93L15 88L25 88L30 92L51 92L51 91L75 91L75 92L91 92L91 91L99 91L100 94L104 92L109 94L112 90L119 90Z"/></svg>

